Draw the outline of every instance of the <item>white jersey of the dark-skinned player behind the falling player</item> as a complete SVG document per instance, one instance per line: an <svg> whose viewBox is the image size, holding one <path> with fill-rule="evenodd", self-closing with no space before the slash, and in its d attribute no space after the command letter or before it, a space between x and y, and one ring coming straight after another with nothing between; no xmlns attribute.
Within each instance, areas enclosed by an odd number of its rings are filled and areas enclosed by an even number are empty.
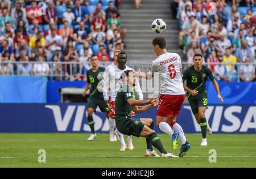
<svg viewBox="0 0 256 179"><path fill-rule="evenodd" d="M124 70L118 69L117 66L114 67L114 69L110 70L110 101L115 101L115 97L117 96L117 92L119 88L122 86L122 82L120 80L121 74L126 70L133 70L129 66L126 65L126 68ZM134 71L134 70L133 70ZM138 80L135 84L135 92L137 93L138 99L143 100L143 93L141 90L141 87L139 86Z"/></svg>

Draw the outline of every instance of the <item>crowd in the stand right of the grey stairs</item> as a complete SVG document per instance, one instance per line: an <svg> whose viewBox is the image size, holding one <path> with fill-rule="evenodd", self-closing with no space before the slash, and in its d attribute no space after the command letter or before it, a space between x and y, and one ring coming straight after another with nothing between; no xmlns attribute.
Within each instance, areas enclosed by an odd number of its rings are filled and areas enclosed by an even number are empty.
<svg viewBox="0 0 256 179"><path fill-rule="evenodd" d="M220 63L208 65L219 80L255 80L255 0L174 0L171 9L179 19L179 46L188 64L193 54L201 53L205 62ZM238 62L251 64L238 66Z"/></svg>

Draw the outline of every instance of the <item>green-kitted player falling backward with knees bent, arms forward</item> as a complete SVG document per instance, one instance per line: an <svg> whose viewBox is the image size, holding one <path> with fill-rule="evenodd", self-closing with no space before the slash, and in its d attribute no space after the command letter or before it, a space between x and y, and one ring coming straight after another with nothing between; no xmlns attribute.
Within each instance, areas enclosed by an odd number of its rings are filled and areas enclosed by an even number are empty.
<svg viewBox="0 0 256 179"><path fill-rule="evenodd" d="M133 70L126 70L121 74L120 78L122 80L122 87L119 88L115 101L115 122L118 131L126 135L146 137L147 151L145 156L159 156L153 150L153 145L161 152L162 157L177 157L164 150L161 140L153 130L154 123L151 118L137 119L130 115L131 109L133 109L135 113L145 112L157 106L159 100L155 100L154 96L146 101L135 100L133 98L132 88L136 83ZM140 106L144 104L148 105Z"/></svg>

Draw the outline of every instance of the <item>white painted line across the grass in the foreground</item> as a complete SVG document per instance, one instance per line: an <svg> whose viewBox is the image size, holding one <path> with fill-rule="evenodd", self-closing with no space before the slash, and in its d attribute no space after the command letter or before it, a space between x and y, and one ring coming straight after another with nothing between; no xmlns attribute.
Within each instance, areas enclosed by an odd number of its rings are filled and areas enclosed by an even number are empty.
<svg viewBox="0 0 256 179"><path fill-rule="evenodd" d="M49 159L101 159L101 158L145 158L144 156L46 156ZM208 158L209 156L185 156L185 158ZM218 158L251 158L256 156L217 156ZM34 156L0 156L0 159L30 159ZM151 158L151 157L150 157Z"/></svg>

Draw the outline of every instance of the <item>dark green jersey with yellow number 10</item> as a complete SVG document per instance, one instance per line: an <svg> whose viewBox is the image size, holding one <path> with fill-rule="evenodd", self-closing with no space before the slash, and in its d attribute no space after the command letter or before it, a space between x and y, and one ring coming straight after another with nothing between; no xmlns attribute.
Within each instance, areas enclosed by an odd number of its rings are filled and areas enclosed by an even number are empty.
<svg viewBox="0 0 256 179"><path fill-rule="evenodd" d="M95 100L102 100L103 99L103 93L98 91L98 83L101 81L101 76L99 75L101 72L104 73L105 68L98 67L98 70L96 72L93 72L92 69L88 70L87 75L87 83L91 84L90 87L90 99ZM100 79L100 80L99 80ZM104 99L103 99L104 100Z"/></svg>

